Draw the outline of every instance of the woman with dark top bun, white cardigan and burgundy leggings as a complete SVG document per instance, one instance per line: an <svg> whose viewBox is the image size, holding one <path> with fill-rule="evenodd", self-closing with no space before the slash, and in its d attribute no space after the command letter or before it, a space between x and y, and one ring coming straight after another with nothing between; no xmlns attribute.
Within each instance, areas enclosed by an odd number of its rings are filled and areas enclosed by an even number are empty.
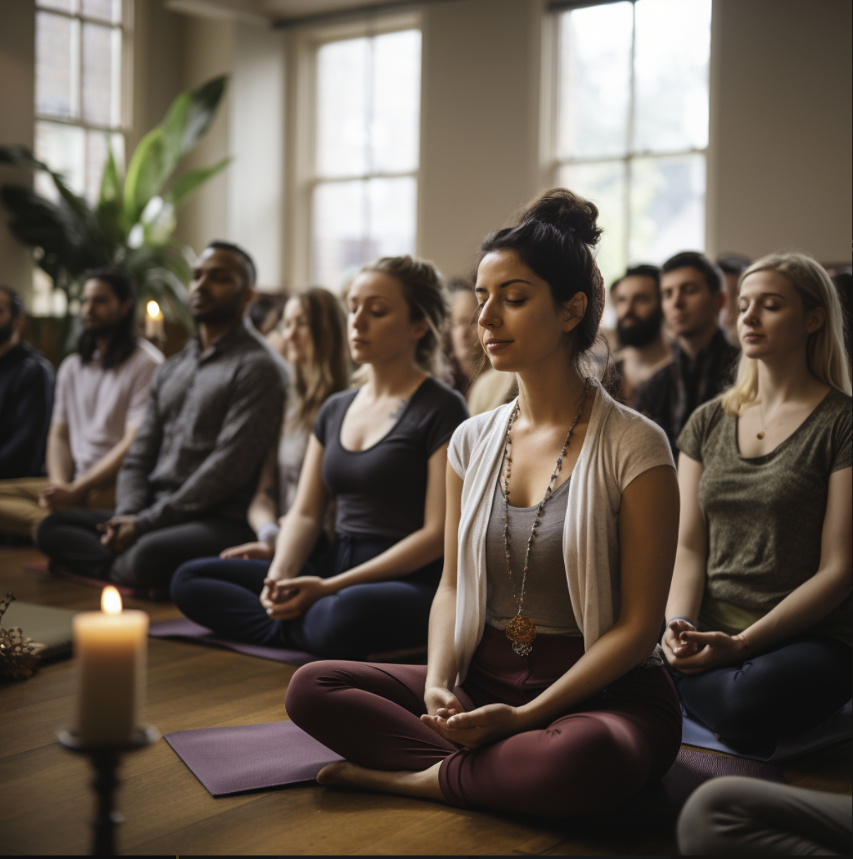
<svg viewBox="0 0 853 859"><path fill-rule="evenodd" d="M584 378L598 211L557 189L484 240L479 332L521 394L451 440L429 666L314 662L290 718L346 758L320 783L552 816L667 771L681 710L656 655L678 532L666 436Z"/></svg>

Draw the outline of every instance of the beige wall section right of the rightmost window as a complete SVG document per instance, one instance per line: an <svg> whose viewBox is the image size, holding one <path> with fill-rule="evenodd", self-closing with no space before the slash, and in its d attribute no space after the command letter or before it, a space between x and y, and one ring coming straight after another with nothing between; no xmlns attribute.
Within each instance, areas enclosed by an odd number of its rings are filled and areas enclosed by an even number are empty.
<svg viewBox="0 0 853 859"><path fill-rule="evenodd" d="M708 249L850 261L850 0L714 0Z"/></svg>

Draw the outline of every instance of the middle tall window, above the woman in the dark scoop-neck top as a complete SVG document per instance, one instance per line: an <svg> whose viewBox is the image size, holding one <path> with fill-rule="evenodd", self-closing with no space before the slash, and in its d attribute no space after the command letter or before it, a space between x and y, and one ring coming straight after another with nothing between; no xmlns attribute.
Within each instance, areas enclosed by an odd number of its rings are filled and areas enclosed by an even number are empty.
<svg viewBox="0 0 853 859"><path fill-rule="evenodd" d="M420 31L329 42L316 73L311 277L337 289L415 250Z"/></svg>

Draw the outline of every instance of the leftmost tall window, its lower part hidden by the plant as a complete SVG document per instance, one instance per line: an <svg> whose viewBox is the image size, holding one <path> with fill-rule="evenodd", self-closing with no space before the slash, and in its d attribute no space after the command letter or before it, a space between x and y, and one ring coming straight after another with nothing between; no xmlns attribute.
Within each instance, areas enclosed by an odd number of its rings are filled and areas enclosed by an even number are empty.
<svg viewBox="0 0 853 859"><path fill-rule="evenodd" d="M123 0L36 0L35 154L95 200L107 159L124 159ZM37 174L36 190L53 196Z"/></svg>

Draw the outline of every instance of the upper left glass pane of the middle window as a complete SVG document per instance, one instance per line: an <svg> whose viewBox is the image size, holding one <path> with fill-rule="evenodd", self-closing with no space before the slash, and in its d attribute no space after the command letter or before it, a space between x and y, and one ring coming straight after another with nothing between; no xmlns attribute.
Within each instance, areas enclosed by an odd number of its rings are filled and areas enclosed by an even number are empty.
<svg viewBox="0 0 853 859"><path fill-rule="evenodd" d="M331 42L317 52L317 173L362 174L367 161L369 40Z"/></svg>

